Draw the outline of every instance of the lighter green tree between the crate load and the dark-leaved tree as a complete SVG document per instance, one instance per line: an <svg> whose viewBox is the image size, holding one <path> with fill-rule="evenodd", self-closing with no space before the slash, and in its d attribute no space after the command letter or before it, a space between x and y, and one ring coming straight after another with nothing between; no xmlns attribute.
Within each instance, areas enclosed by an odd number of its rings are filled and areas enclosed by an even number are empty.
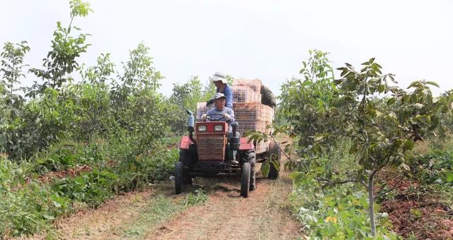
<svg viewBox="0 0 453 240"><path fill-rule="evenodd" d="M328 53L309 51L308 61L303 61L300 71L303 79L292 78L282 84L280 110L285 116L289 132L294 136L298 155L314 157L321 148L316 140L336 142L341 140L338 128L332 119L338 114L336 101L338 90L333 84L333 70L328 64ZM323 133L333 133L323 135ZM338 134L336 134L338 133Z"/></svg>

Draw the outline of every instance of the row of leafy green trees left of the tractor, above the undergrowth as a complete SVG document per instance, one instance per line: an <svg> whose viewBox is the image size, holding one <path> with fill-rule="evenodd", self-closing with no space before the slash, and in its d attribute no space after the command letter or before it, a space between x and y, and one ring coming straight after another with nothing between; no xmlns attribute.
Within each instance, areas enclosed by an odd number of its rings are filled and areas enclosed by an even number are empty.
<svg viewBox="0 0 453 240"><path fill-rule="evenodd" d="M81 0L71 0L70 7L69 25L57 23L41 68L24 64L30 51L27 42L4 44L0 55L0 151L13 160L27 160L62 138L88 141L129 135L136 136L135 154L139 154L156 138L184 131L184 109L195 110L196 102L209 99L214 85L204 85L194 77L174 85L173 95L164 97L158 92L164 76L152 66L144 44L130 51L120 72L110 54L101 54L95 66L79 64L77 59L90 46L86 42L89 35L74 23L91 8ZM19 88L27 70L36 80Z"/></svg>

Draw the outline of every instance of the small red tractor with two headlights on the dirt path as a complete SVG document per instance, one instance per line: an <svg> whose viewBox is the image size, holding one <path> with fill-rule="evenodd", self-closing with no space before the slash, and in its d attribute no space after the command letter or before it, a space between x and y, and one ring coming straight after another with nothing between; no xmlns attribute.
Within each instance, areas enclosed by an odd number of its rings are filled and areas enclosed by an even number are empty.
<svg viewBox="0 0 453 240"><path fill-rule="evenodd" d="M221 121L224 118L222 114L208 114L210 121L195 124L192 113L188 111L188 114L189 136L181 139L179 161L175 167L176 194L183 191L185 184L191 185L195 176L241 176L241 196L246 198L248 192L256 188L256 162L263 162L270 153L275 153L280 161L280 148L274 143L267 152L257 155L253 143L240 137L237 131L240 123L231 124L229 133L228 124ZM268 177L277 179L278 170L273 164L270 166Z"/></svg>

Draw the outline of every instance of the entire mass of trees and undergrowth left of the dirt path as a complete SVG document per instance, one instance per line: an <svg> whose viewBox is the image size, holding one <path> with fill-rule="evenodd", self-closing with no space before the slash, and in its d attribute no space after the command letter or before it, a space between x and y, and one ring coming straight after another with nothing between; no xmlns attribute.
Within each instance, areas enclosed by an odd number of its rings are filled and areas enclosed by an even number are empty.
<svg viewBox="0 0 453 240"><path fill-rule="evenodd" d="M149 48L133 49L122 73L110 54L79 64L88 35L74 35L73 20L91 8L69 4L69 25L57 23L42 68L30 69L40 79L25 88L27 100L14 91L29 47L7 43L1 53L0 238L45 231L81 205L167 179L178 159L162 139L182 112L157 92L164 77Z"/></svg>

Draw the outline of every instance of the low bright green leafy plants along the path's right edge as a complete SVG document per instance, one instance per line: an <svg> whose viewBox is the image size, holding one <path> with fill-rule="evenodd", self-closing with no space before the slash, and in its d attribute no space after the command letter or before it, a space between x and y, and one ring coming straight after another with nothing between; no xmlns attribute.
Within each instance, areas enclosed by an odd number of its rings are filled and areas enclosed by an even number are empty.
<svg viewBox="0 0 453 240"><path fill-rule="evenodd" d="M321 191L314 176L294 172L292 202L297 217L304 222L311 239L366 239L371 237L367 194L353 184L337 185ZM379 205L375 205L379 209ZM379 215L377 237L397 239L389 232L388 215Z"/></svg>

